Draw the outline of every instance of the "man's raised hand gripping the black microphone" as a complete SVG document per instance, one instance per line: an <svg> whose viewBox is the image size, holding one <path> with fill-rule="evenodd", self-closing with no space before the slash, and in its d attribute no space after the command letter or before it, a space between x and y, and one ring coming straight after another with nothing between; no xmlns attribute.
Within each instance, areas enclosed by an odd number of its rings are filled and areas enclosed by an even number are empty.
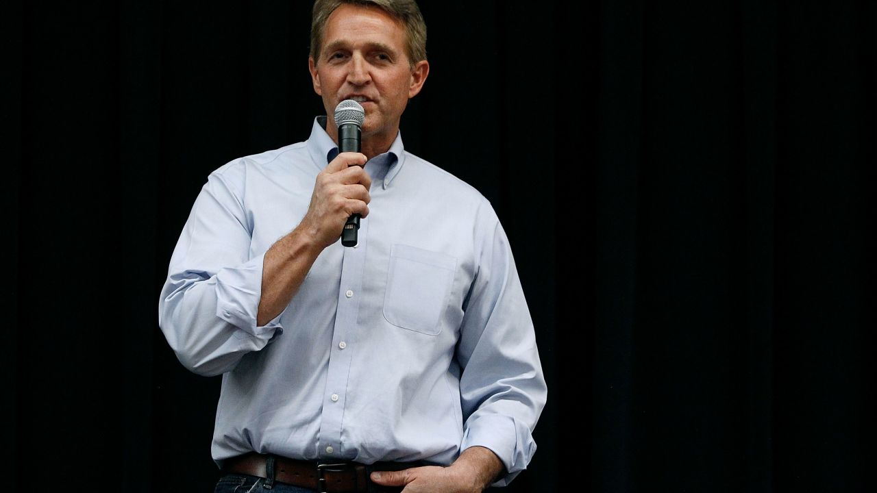
<svg viewBox="0 0 877 493"><path fill-rule="evenodd" d="M340 153L317 175L308 212L296 228L308 234L317 247L338 241L351 214L368 215L372 179L363 169L366 161L365 154Z"/></svg>

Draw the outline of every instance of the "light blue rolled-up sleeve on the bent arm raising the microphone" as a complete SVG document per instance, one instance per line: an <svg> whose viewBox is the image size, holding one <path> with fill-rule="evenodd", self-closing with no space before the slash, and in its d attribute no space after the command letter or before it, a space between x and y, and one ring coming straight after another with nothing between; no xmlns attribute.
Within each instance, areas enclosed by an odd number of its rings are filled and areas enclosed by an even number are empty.
<svg viewBox="0 0 877 493"><path fill-rule="evenodd" d="M235 168L237 167L237 168ZM171 257L159 300L159 325L177 359L199 375L234 368L282 333L282 313L259 326L264 254L250 257L251 228L239 189L223 173L246 173L230 163L210 175ZM232 267L229 267L232 266Z"/></svg>

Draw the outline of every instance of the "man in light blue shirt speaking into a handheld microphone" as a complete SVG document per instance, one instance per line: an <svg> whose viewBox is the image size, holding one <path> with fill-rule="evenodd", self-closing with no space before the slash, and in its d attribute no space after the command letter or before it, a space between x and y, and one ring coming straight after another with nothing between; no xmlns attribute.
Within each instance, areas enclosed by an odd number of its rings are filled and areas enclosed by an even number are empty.
<svg viewBox="0 0 877 493"><path fill-rule="evenodd" d="M503 228L403 150L425 39L413 0L317 0L327 116L218 168L196 199L160 325L187 368L223 375L217 491L481 491L535 452L545 380ZM338 153L346 99L365 110L361 154ZM342 247L353 213L359 243Z"/></svg>

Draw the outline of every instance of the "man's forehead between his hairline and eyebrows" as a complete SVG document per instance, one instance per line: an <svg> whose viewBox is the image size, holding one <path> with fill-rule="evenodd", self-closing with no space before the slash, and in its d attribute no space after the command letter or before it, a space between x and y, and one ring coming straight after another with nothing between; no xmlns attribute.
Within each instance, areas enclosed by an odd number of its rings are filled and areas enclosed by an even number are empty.
<svg viewBox="0 0 877 493"><path fill-rule="evenodd" d="M405 27L377 7L342 4L326 21L323 47L385 45L404 52Z"/></svg>

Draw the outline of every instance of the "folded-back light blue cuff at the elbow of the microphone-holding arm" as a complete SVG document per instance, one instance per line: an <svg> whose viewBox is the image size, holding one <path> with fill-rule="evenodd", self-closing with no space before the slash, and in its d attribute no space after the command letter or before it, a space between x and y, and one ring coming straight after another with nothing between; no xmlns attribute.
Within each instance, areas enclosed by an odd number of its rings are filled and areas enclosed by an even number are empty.
<svg viewBox="0 0 877 493"><path fill-rule="evenodd" d="M258 339L272 339L283 332L280 315L266 325L256 325L262 295L262 264L265 254L217 273L217 317Z"/></svg>

